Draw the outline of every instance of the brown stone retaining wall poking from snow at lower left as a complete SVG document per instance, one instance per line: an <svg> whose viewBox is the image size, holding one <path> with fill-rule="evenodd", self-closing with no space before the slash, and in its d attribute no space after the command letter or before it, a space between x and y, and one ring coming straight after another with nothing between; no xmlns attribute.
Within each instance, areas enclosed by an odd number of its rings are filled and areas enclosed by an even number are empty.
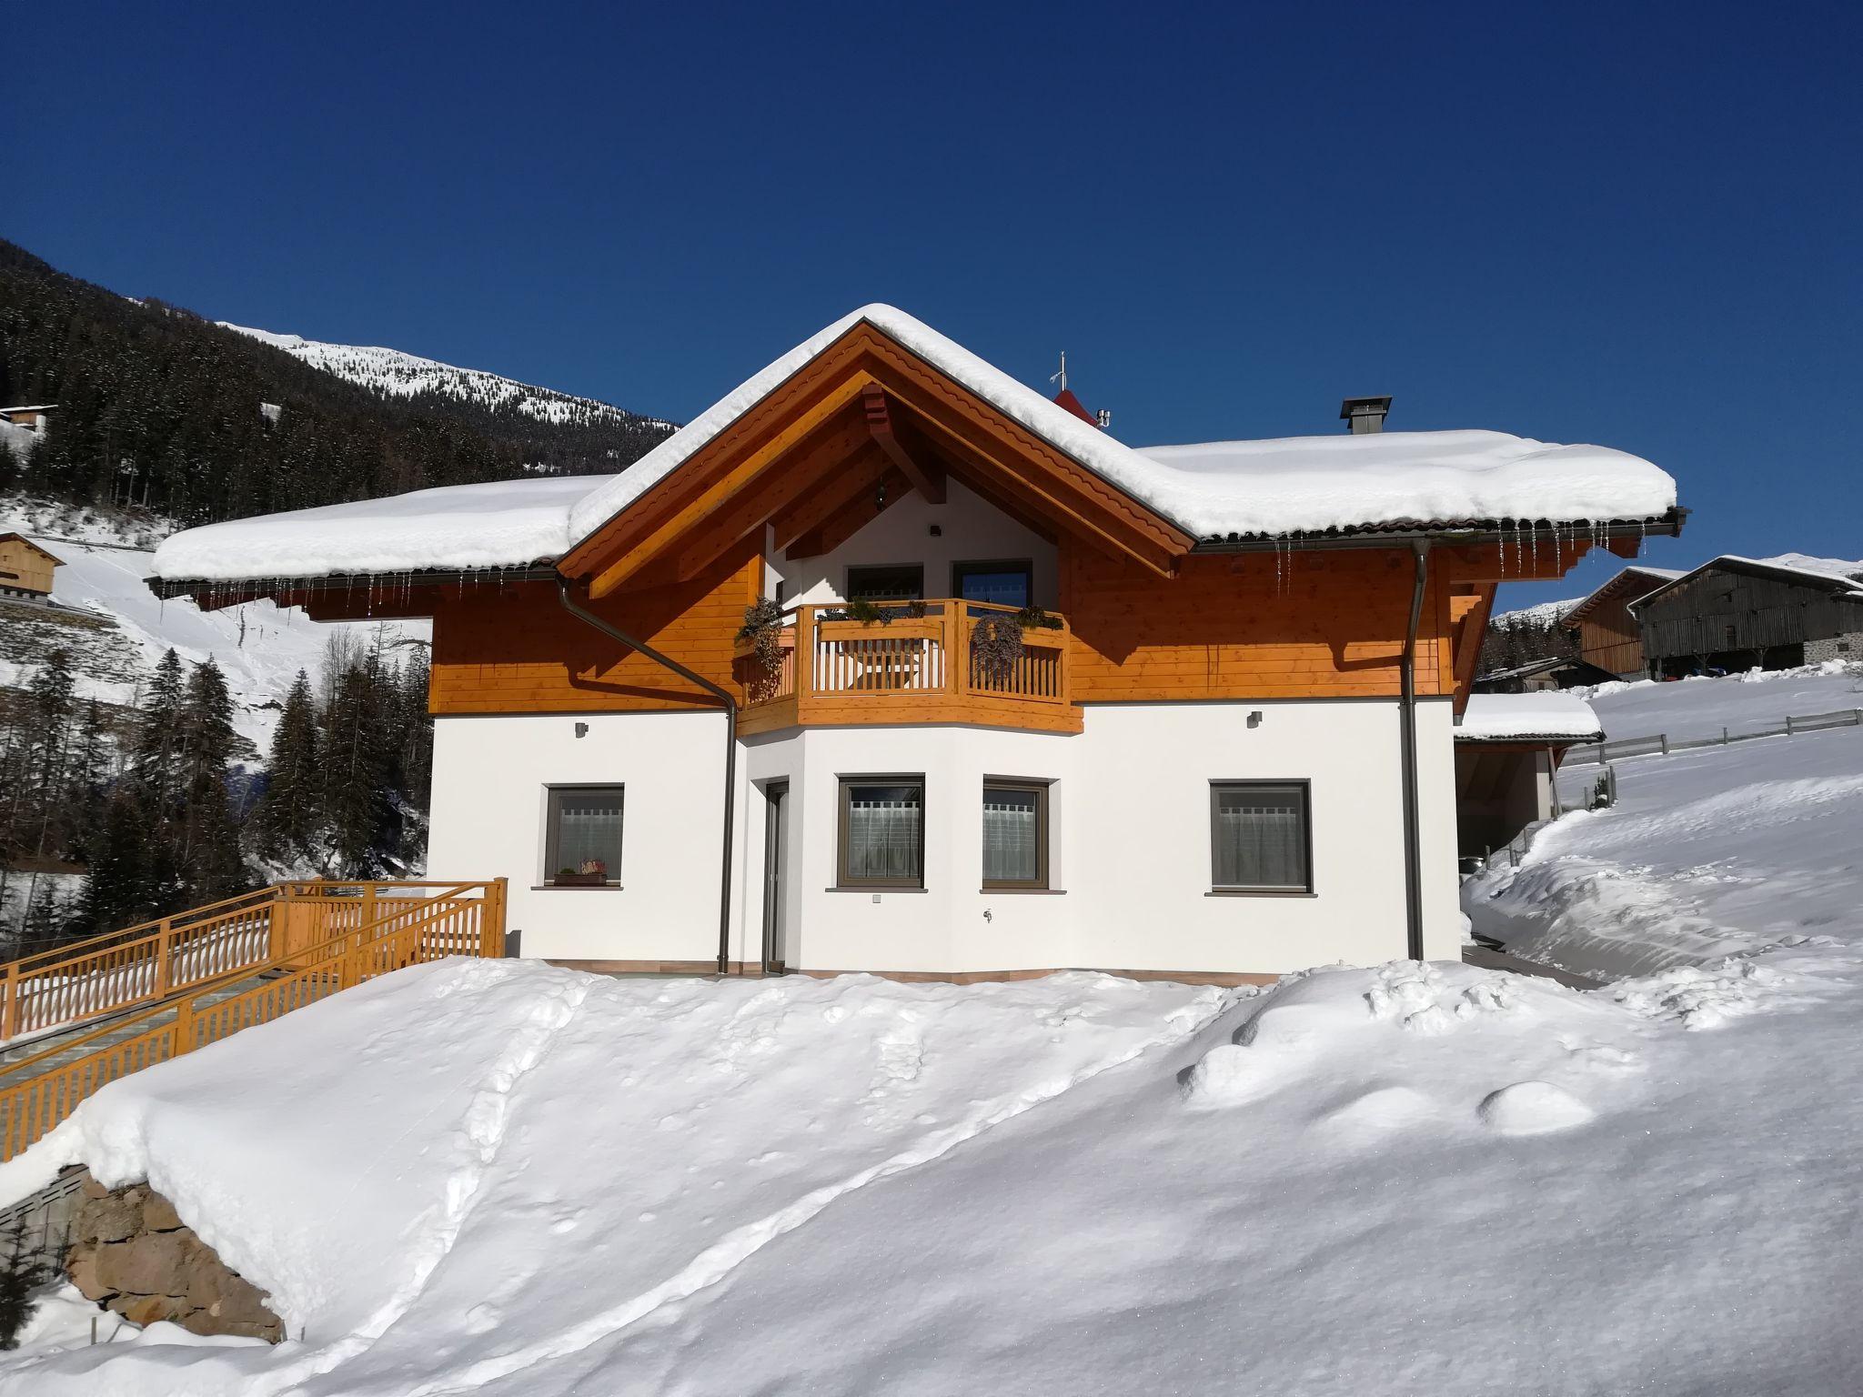
<svg viewBox="0 0 1863 1397"><path fill-rule="evenodd" d="M257 1285L194 1235L173 1203L147 1185L104 1188L84 1179L84 1203L65 1252L71 1283L136 1324L173 1321L194 1334L285 1337Z"/></svg>

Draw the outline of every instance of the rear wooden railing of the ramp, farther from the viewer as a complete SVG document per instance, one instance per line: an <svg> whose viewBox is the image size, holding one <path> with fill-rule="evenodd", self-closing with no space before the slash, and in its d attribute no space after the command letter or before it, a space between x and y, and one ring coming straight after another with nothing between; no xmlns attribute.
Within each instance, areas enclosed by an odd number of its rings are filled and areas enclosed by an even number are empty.
<svg viewBox="0 0 1863 1397"><path fill-rule="evenodd" d="M252 969L447 883L276 883L0 965L0 1041L69 1028Z"/></svg>

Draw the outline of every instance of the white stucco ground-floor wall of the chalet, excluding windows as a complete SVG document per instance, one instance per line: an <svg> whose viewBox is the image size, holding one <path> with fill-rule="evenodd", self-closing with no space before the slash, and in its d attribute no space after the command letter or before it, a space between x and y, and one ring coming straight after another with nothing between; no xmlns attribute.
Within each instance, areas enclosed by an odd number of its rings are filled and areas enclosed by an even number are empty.
<svg viewBox="0 0 1863 1397"><path fill-rule="evenodd" d="M1397 713L1392 700L1118 704L1088 708L1077 736L872 726L751 738L738 758L730 959L760 956L771 780L790 782L792 969L1271 974L1399 957ZM717 713L438 719L432 875L510 879L525 956L712 961L721 725ZM1420 704L1418 756L1425 950L1455 957L1448 700ZM876 773L926 779L926 890L877 902L835 888L838 779ZM1053 782L1053 892L982 888L986 775ZM1211 894L1209 782L1224 779L1312 782L1312 896ZM538 887L546 788L568 782L626 786L620 888Z"/></svg>

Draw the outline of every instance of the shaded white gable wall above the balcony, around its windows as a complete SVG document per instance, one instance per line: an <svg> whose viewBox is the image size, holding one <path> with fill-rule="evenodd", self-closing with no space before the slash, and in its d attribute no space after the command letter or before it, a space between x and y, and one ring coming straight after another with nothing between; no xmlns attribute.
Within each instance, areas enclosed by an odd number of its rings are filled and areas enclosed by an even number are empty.
<svg viewBox="0 0 1863 1397"><path fill-rule="evenodd" d="M926 596L950 596L952 563L1028 559L1034 563L1034 602L1049 609L1058 604L1054 544L958 481L946 484L945 499L943 505L930 505L913 492L831 553L794 563L781 555L766 559L769 590L782 579L788 583L786 602L842 602L850 566L922 563ZM937 538L932 536L933 523L939 525Z"/></svg>

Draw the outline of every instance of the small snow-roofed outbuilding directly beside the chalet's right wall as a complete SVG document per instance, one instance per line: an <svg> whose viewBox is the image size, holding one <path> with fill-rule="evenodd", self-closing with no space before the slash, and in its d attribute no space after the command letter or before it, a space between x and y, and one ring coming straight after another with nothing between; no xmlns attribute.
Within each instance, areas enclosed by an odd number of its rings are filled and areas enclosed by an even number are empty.
<svg viewBox="0 0 1863 1397"><path fill-rule="evenodd" d="M1604 725L1576 695L1470 695L1455 726L1457 853L1485 857L1559 814L1559 762L1589 741L1604 741Z"/></svg>

